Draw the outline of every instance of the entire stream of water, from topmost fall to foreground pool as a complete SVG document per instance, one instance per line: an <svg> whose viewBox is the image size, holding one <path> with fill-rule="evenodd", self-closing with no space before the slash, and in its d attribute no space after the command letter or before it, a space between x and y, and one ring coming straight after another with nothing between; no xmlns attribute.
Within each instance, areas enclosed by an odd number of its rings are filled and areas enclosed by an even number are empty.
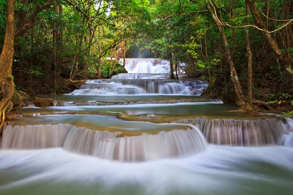
<svg viewBox="0 0 293 195"><path fill-rule="evenodd" d="M168 61L20 108L1 140L0 195L292 195L293 119L249 115L168 79Z"/></svg>

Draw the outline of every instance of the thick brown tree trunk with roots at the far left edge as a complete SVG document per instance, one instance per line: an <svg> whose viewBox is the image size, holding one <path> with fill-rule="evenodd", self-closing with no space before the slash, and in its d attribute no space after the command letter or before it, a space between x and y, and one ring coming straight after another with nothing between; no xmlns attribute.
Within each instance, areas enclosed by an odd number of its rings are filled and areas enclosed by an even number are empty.
<svg viewBox="0 0 293 195"><path fill-rule="evenodd" d="M0 54L0 131L4 123L5 114L12 108L11 98L14 92L12 77L12 61L14 56L13 43L15 36L14 12L15 0L7 0L6 32Z"/></svg>

